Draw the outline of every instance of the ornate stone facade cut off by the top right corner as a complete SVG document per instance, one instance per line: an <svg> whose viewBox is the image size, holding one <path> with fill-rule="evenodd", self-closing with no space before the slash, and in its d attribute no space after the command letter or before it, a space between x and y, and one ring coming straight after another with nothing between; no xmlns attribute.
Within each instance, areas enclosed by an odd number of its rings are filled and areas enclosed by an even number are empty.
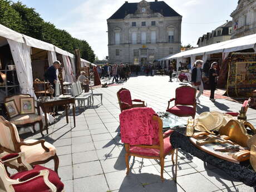
<svg viewBox="0 0 256 192"><path fill-rule="evenodd" d="M232 39L256 33L256 1L239 0L230 16L233 18Z"/></svg>

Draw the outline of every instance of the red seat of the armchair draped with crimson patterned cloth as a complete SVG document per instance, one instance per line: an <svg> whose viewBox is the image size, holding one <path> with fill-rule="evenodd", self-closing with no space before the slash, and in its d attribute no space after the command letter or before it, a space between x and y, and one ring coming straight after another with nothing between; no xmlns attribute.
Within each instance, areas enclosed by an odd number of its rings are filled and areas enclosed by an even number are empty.
<svg viewBox="0 0 256 192"><path fill-rule="evenodd" d="M166 137L164 139L164 155L168 154L173 147L170 144L170 137ZM137 146L131 146L130 152L137 155L142 156L159 156L160 150L159 149L150 149L150 148L143 148L143 147L137 147Z"/></svg>

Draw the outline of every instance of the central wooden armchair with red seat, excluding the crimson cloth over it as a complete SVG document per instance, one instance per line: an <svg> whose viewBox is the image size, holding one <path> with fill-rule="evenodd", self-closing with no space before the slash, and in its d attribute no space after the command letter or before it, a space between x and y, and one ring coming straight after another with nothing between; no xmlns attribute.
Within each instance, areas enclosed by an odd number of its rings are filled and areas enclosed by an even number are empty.
<svg viewBox="0 0 256 192"><path fill-rule="evenodd" d="M146 109L146 108L145 108ZM140 109L141 112L144 112L144 109ZM129 118L129 117L127 117ZM146 159L158 159L160 160L160 166L161 166L161 180L164 181L164 159L166 155L171 155L171 160L174 165L174 148L170 144L170 134L173 132L173 130L166 131L163 135L163 122L160 119L160 117L152 116L152 121L156 121L156 125L154 126L155 129L154 132L157 133L158 138L155 140L153 145L131 145L130 143L125 143L125 163L126 163L126 175L129 174L130 167L129 167L129 156L137 156L142 157ZM121 119L120 119L121 122ZM145 124L144 124L145 125ZM129 129L132 129L133 127L129 127ZM129 137L127 133L122 132L124 131L121 128L121 135L124 137Z"/></svg>

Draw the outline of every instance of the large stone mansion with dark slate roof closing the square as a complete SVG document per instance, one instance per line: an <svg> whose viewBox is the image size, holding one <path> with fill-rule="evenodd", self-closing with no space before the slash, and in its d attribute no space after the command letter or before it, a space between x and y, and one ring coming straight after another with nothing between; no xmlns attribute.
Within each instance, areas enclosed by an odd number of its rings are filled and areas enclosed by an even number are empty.
<svg viewBox="0 0 256 192"><path fill-rule="evenodd" d="M107 19L109 63L143 65L180 52L181 20L164 1L126 1Z"/></svg>

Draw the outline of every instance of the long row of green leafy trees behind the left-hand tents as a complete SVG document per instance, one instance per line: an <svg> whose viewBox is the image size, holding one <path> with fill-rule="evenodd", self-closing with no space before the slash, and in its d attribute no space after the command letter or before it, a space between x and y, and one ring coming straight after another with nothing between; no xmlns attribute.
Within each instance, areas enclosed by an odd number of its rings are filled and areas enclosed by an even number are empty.
<svg viewBox="0 0 256 192"><path fill-rule="evenodd" d="M12 3L8 0L0 0L0 23L14 31L51 43L70 53L78 48L82 58L90 62L95 61L95 54L85 40L73 38L67 31L57 29L54 24L43 21L34 8L28 8L21 2Z"/></svg>

